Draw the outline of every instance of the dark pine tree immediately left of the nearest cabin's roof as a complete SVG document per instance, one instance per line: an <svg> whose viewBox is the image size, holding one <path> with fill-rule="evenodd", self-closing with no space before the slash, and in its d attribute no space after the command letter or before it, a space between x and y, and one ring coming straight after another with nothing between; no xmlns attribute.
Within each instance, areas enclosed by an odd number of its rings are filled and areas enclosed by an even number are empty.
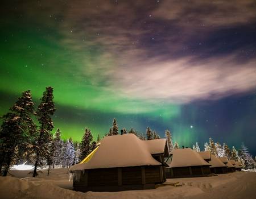
<svg viewBox="0 0 256 199"><path fill-rule="evenodd" d="M82 136L82 142L80 145L80 161L83 160L90 153L90 144L93 140L93 136L88 128L85 128L84 136Z"/></svg>

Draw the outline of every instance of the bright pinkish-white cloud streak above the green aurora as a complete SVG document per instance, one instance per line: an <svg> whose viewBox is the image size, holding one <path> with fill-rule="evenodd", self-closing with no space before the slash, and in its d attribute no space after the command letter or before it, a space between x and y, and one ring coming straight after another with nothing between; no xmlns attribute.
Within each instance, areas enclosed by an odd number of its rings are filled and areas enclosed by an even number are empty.
<svg viewBox="0 0 256 199"><path fill-rule="evenodd" d="M256 88L256 60L240 65L233 56L204 61L191 57L161 62L151 59L117 72L120 92L142 99L189 103L220 99ZM131 64L133 65L133 64ZM113 84L117 84L113 82Z"/></svg>

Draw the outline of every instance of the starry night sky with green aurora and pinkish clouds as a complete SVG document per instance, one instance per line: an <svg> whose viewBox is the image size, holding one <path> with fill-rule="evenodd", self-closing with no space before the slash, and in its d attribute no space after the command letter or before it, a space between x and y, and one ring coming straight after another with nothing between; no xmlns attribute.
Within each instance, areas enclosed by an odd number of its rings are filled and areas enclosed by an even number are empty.
<svg viewBox="0 0 256 199"><path fill-rule="evenodd" d="M52 86L64 139L117 118L256 155L255 1L3 1L0 16L1 115Z"/></svg>

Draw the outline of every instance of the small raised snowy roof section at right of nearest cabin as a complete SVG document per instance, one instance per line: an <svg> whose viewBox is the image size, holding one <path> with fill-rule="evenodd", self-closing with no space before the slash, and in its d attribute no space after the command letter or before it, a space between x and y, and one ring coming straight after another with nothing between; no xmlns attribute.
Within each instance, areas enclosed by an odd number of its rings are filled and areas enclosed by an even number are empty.
<svg viewBox="0 0 256 199"><path fill-rule="evenodd" d="M144 140L151 154L163 154L166 147L166 139Z"/></svg>

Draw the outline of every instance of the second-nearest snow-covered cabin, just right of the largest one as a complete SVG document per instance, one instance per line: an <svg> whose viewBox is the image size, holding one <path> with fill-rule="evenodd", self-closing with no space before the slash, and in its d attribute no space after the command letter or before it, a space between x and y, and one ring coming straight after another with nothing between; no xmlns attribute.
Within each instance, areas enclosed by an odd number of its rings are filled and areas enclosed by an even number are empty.
<svg viewBox="0 0 256 199"><path fill-rule="evenodd" d="M210 164L191 148L172 150L167 164L167 178L205 176L210 173Z"/></svg>

